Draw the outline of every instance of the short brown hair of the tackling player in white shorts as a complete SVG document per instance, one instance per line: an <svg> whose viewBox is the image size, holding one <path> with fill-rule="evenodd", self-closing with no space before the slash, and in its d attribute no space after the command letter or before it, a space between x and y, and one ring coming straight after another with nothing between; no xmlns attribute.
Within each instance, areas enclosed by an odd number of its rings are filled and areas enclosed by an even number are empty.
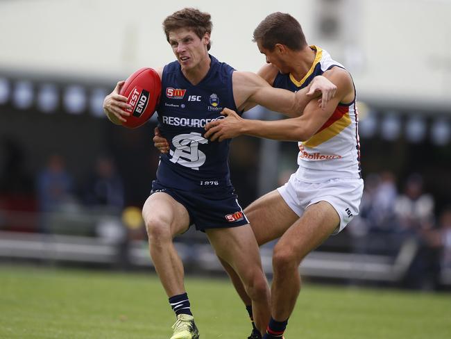
<svg viewBox="0 0 451 339"><path fill-rule="evenodd" d="M275 44L284 44L293 51L299 51L307 45L298 20L288 13L280 12L268 15L255 28L253 42L257 41L269 51L273 51Z"/></svg>

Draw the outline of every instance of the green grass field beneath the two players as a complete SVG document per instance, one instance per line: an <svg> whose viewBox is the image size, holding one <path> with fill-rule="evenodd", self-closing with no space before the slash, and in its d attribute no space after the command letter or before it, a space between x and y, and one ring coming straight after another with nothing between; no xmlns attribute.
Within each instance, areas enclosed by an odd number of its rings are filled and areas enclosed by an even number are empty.
<svg viewBox="0 0 451 339"><path fill-rule="evenodd" d="M202 339L244 339L227 280L189 278ZM175 318L153 274L0 266L0 338L168 339ZM451 295L307 284L287 339L450 339Z"/></svg>

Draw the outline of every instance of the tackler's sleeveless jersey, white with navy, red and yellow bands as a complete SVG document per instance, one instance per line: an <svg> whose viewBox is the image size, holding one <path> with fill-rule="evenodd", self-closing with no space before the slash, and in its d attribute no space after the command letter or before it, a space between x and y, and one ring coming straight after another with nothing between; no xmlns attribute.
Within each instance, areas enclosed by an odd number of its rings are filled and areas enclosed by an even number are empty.
<svg viewBox="0 0 451 339"><path fill-rule="evenodd" d="M296 92L332 67L344 69L343 65L332 60L327 51L316 46L310 48L316 51L316 58L305 77L296 81L291 74L279 73L274 80L274 87ZM355 98L350 103L340 103L312 138L298 142L298 179L318 182L361 177L359 119L355 103Z"/></svg>

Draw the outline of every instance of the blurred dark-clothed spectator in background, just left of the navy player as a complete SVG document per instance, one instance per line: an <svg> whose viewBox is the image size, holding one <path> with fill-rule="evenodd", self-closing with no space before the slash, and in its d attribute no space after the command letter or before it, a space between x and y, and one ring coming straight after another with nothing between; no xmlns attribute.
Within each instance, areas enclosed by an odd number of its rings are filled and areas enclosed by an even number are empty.
<svg viewBox="0 0 451 339"><path fill-rule="evenodd" d="M85 202L89 206L107 208L116 213L124 208L124 185L108 156L96 160L94 172L85 188Z"/></svg>

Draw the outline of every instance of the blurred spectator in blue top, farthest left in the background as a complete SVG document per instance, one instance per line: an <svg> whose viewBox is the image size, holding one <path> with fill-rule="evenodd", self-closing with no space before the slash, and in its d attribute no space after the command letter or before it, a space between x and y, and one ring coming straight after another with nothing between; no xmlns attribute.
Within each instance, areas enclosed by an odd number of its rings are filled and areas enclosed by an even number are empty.
<svg viewBox="0 0 451 339"><path fill-rule="evenodd" d="M72 201L71 176L66 172L65 162L58 154L50 156L46 167L37 177L37 197L40 210L59 210Z"/></svg>

